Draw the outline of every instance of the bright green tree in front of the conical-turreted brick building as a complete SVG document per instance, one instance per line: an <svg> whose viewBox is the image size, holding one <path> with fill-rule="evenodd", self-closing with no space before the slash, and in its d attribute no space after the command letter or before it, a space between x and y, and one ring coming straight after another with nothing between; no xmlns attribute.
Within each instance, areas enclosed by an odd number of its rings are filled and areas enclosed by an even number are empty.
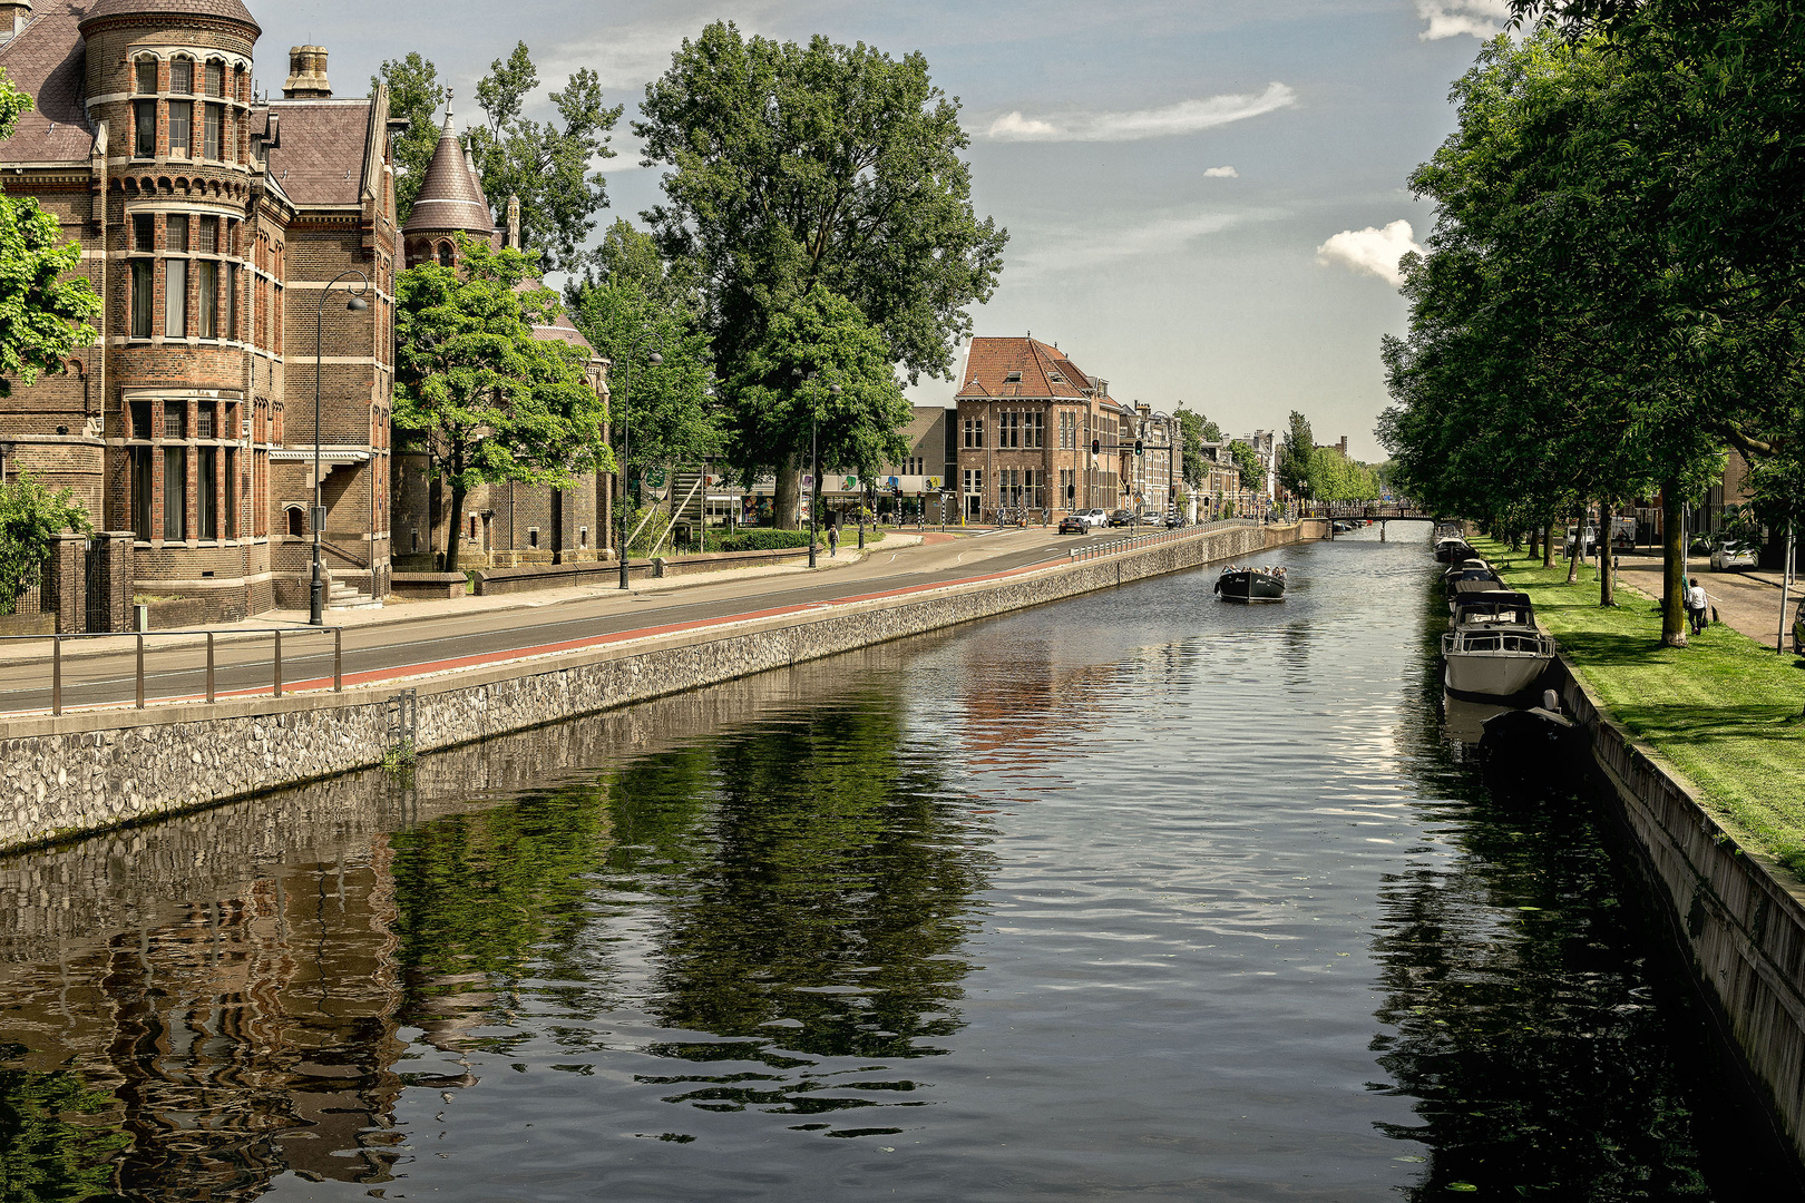
<svg viewBox="0 0 1805 1203"><path fill-rule="evenodd" d="M558 294L527 287L536 263L518 251L462 236L458 245L462 274L421 263L395 280L395 424L428 438L449 512L462 514L482 483L561 487L612 471L587 357L532 335ZM457 550L453 537L446 572L457 572Z"/></svg>

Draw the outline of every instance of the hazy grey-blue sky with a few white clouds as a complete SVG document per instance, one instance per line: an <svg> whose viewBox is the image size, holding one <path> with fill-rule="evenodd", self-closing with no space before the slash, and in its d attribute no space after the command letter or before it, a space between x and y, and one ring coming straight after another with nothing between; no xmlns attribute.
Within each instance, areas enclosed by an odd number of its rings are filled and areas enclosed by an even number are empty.
<svg viewBox="0 0 1805 1203"><path fill-rule="evenodd" d="M1179 402L1227 435L1343 435L1384 458L1379 339L1401 334L1397 256L1433 206L1406 180L1453 130L1449 85L1502 29L1504 0L249 0L264 27L258 87L287 47L330 52L339 96L419 51L477 123L477 79L525 41L545 92L594 69L625 103L601 164L616 216L657 204L628 121L684 38L727 18L782 40L827 34L892 56L919 51L962 105L973 206L1009 231L975 334L1058 343L1119 400ZM964 354L953 372L964 368ZM924 379L917 404L957 382Z"/></svg>

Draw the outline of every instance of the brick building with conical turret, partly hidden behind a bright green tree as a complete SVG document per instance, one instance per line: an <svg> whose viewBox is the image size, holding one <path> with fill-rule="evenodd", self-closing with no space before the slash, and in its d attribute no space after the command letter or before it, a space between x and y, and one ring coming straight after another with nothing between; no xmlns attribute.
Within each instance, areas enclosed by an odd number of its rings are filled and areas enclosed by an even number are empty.
<svg viewBox="0 0 1805 1203"><path fill-rule="evenodd" d="M507 227L496 229L489 198L482 191L477 164L458 142L451 106L439 132L421 193L408 211L401 240L404 262L457 265L458 234L480 238L498 247L520 247L520 202L509 197ZM538 287L538 281L531 281ZM534 326L534 337L569 343L585 354L588 382L608 395L606 361L558 310L551 325ZM431 480L431 445L424 436L408 438L395 471L397 563L431 568L433 561L458 539L460 566L554 565L594 561L612 556L612 483L606 473L587 476L567 489L549 485L478 485L464 500L464 512L448 512L451 500L444 482Z"/></svg>

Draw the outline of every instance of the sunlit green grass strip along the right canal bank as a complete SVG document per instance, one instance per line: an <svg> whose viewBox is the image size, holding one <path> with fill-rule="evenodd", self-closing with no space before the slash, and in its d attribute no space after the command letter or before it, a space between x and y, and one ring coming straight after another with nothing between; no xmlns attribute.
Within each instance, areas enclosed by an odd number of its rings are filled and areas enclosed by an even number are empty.
<svg viewBox="0 0 1805 1203"><path fill-rule="evenodd" d="M1661 610L1635 590L1619 584L1605 610L1592 568L1567 584L1565 563L1543 568L1487 539L1475 548L1529 593L1612 716L1691 777L1726 826L1805 878L1805 662L1722 624L1662 647Z"/></svg>

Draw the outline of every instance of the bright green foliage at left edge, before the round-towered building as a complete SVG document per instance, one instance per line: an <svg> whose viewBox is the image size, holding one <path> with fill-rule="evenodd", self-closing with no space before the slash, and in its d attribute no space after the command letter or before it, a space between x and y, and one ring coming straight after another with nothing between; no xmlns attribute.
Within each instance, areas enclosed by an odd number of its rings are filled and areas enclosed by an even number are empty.
<svg viewBox="0 0 1805 1203"><path fill-rule="evenodd" d="M31 106L0 70L0 142ZM63 372L70 352L94 343L88 321L101 299L87 276L70 274L78 267L81 245L36 198L0 193L0 397L14 381L29 388L42 372Z"/></svg>

